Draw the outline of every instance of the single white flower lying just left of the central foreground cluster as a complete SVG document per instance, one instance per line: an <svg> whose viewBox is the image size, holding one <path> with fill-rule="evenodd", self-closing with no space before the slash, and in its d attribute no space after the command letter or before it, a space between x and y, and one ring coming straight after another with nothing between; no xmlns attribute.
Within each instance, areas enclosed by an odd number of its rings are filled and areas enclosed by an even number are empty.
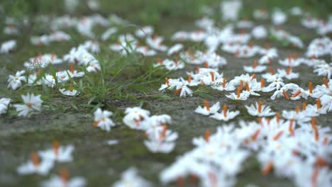
<svg viewBox="0 0 332 187"><path fill-rule="evenodd" d="M101 111L101 108L98 108L94 112L94 126L99 127L102 130L110 131L111 127L114 127L114 122L109 118L113 115L110 111Z"/></svg>

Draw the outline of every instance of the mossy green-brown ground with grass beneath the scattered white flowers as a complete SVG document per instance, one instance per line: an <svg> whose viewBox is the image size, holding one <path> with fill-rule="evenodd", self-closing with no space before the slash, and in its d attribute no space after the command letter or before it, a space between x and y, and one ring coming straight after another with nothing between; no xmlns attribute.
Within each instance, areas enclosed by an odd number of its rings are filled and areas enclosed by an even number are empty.
<svg viewBox="0 0 332 187"><path fill-rule="evenodd" d="M133 20L133 23L143 24L146 22L153 24L157 28L157 33L165 35L166 38L169 38L176 30L193 29L193 21L197 18L197 13L192 13L184 7L196 8L199 7L196 4L203 4L201 1L194 1L192 2L194 5L192 5L189 1L184 1L183 3L162 4L156 6L154 10L153 6L155 6L155 3L150 1L145 1L145 6L137 1L133 1L133 5L130 8L120 1L114 2L112 8L102 8L101 13L107 15L107 13L113 11L129 21ZM259 3L255 4L260 5ZM218 1L209 1L208 5L218 6ZM262 8L264 6L266 7L267 5L263 4ZM185 10L179 13L174 10L176 8L179 8L179 11ZM246 14L244 13L244 15ZM262 24L268 26L267 23ZM316 37L314 30L304 29L297 21L291 20L282 26L282 28L288 30L290 33L304 35L303 40L306 45ZM132 31L133 29L128 28L127 30ZM65 31L77 35L72 30ZM170 92L160 93L157 91L160 84L163 83L163 77L160 78L160 76L165 74L165 72L154 73L149 79L142 81L154 81L151 84L140 84L142 83L141 81L136 81L135 84L140 86L125 86L121 88L120 92L109 91L103 95L104 98L92 101L91 103L89 103L89 100L93 97L93 91L86 91L86 95L82 97L68 98L60 96L57 91L53 90L48 90L48 94L45 94L43 93L45 90L42 88L23 88L19 91L7 90L6 79L8 75L13 74L16 70L23 69L22 63L28 60L29 57L37 55L39 51L54 51L57 55L62 56L69 52L71 47L77 46L84 41L84 39L80 40L80 36L77 35L77 39L72 42L55 43L48 47L32 46L28 40L29 36L42 33L43 30L36 30L35 28L27 29L23 35L16 37L18 40L16 51L11 52L9 55L0 56L0 98L11 97L13 98L13 103L18 103L21 102L21 94L26 93L26 91L39 90L45 100L43 111L37 115L33 115L31 118L18 118L13 111L7 115L1 115L0 186L36 186L40 181L48 179L48 176L18 176L16 167L26 162L32 150L52 147L53 140L58 140L61 145L72 144L75 147L74 162L70 164L56 164L55 168L52 169L53 173L65 166L73 176L84 176L89 186L109 186L119 178L121 171L127 169L129 166L136 166L141 176L159 186L158 174L160 171L174 162L177 156L193 148L193 137L204 135L206 129L214 132L218 125L223 125L223 123L212 118L206 118L194 113L194 109L202 105L204 99L208 99L211 103L215 103L216 101L227 103L228 108L231 110L235 108L239 110L241 112L240 118L245 120L255 120L255 118L248 115L244 106L259 100L263 101L263 103L268 103L274 111L293 110L295 106L301 105L303 102L302 100L285 101L284 98L271 101L270 96L272 94L263 94L261 97L250 97L248 101L244 102L233 102L226 98L226 92L217 92L211 89L203 89L200 93L194 94L193 97L179 98ZM11 39L11 37L5 35L1 35L0 38L1 41ZM279 42L270 39L258 43L264 45L266 42L272 47L278 47L280 59L284 59L293 52L297 52L299 57L304 56L303 50L285 47ZM107 49L108 45L105 44L103 52L101 52L101 54L106 54L101 57L106 59L106 62L107 59L111 60L117 57ZM200 46L189 47L199 48ZM237 59L233 55L228 55L221 51L218 51L218 54L226 57L228 62L227 66L219 71L223 72L225 77L229 77L230 79L243 73L244 64L251 64L256 59ZM122 60L128 61L128 58L130 57ZM148 64L155 59L138 57L135 60L138 63ZM277 68L280 65L276 61L273 67ZM140 73L145 73L144 70L136 71L137 69L140 68L126 67L116 79L113 79L112 84L118 86L128 84L128 81L135 81L140 76ZM194 67L187 66L186 70L189 69L194 69ZM183 76L186 70L172 72L167 77L176 78ZM306 88L306 84L309 81L313 81L314 85L322 84L321 79L318 79L316 74L312 73L313 69L311 67L301 66L294 70L303 75L300 79L292 81L299 84L299 86ZM111 73L106 75L106 79L111 79L111 77ZM98 77L93 78L98 79ZM259 75L258 79L260 79ZM96 86L101 85L99 85L99 82L96 82ZM148 96L143 94L143 91ZM309 99L307 102L314 103L314 100ZM114 120L118 126L113 128L111 132L104 132L93 128L92 108L96 105L116 113ZM145 139L143 132L131 130L122 124L121 119L124 109L140 105L143 105L143 108L150 110L153 114L165 113L171 115L173 123L170 129L179 133L179 139L177 140L174 152L171 154L150 153L143 145L143 140ZM232 122L236 123L237 120L233 120ZM318 123L323 125L332 124L332 118L329 115L323 115L319 118ZM119 143L118 145L109 146L106 145L106 140L119 140ZM293 186L290 181L277 179L272 174L262 177L260 175L260 165L254 159L249 160L252 161L245 163L245 169L238 176L237 186L244 186L248 183L258 186ZM175 184L170 184L170 186L175 186ZM192 184L187 183L187 186L192 186Z"/></svg>

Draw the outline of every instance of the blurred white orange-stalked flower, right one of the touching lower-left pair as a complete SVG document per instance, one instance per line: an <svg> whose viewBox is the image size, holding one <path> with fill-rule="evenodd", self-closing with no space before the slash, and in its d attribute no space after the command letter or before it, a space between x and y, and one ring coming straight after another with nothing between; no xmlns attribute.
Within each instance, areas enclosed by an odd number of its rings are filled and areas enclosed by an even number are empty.
<svg viewBox="0 0 332 187"><path fill-rule="evenodd" d="M66 147L59 146L59 142L53 142L53 149L40 151L38 154L42 159L57 161L57 162L72 162L72 152L74 146L68 145Z"/></svg>

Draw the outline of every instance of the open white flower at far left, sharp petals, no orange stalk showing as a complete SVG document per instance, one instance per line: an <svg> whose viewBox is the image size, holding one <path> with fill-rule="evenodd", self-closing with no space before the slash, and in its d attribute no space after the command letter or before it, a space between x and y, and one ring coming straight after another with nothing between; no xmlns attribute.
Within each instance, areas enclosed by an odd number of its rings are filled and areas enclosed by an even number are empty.
<svg viewBox="0 0 332 187"><path fill-rule="evenodd" d="M13 105L16 108L16 111L18 111L18 116L28 116L34 112L34 111L40 111L40 108L42 106L43 100L40 99L40 95L35 96L34 94L26 94L26 96L21 96L23 99L24 104L15 104Z"/></svg>

